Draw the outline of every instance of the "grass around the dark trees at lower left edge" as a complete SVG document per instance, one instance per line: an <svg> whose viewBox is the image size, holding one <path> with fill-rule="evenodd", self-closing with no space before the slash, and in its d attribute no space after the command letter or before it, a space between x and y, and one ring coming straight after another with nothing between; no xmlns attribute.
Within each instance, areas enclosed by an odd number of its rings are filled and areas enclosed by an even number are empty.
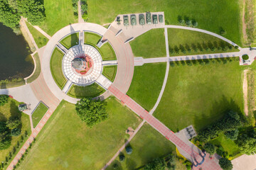
<svg viewBox="0 0 256 170"><path fill-rule="evenodd" d="M21 135L23 135L25 131L27 131L28 135L30 135L31 126L29 116L25 113L21 113L20 111L18 111L18 101L9 98L8 103L6 103L4 106L0 106L0 121L6 121L12 116L18 116L19 118L21 118ZM9 157L9 152L13 150L18 140L21 139L21 135L17 137L11 137L11 146L8 149L0 150L0 162L5 161L6 157Z"/></svg>

